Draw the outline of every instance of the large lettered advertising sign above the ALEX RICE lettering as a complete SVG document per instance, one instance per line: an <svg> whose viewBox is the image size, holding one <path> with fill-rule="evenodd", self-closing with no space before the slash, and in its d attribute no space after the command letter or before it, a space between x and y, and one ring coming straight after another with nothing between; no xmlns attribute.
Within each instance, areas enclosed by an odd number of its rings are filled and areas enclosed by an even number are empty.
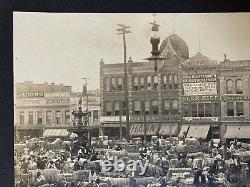
<svg viewBox="0 0 250 187"><path fill-rule="evenodd" d="M217 94L216 74L197 74L183 76L184 95Z"/></svg>

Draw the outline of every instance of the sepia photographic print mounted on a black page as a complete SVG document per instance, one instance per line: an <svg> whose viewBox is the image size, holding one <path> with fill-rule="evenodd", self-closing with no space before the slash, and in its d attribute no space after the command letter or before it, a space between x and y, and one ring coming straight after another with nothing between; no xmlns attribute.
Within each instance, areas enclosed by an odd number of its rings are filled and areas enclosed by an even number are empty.
<svg viewBox="0 0 250 187"><path fill-rule="evenodd" d="M249 20L13 12L15 187L250 187Z"/></svg>

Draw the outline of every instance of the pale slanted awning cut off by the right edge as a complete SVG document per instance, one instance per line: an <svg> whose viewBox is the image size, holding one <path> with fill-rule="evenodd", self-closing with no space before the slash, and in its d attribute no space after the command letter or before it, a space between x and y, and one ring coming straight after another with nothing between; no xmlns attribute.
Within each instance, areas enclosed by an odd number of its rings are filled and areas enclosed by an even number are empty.
<svg viewBox="0 0 250 187"><path fill-rule="evenodd" d="M224 138L250 138L250 126L228 125Z"/></svg>

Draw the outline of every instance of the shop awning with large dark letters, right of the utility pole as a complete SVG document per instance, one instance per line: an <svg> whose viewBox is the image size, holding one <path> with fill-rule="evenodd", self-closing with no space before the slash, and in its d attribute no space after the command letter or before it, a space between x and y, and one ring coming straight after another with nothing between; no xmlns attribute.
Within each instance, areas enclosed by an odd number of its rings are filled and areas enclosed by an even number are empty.
<svg viewBox="0 0 250 187"><path fill-rule="evenodd" d="M159 132L160 125L157 123L147 123L146 124L146 135L156 135ZM134 123L130 128L130 134L132 136L138 136L144 134L144 124Z"/></svg>

